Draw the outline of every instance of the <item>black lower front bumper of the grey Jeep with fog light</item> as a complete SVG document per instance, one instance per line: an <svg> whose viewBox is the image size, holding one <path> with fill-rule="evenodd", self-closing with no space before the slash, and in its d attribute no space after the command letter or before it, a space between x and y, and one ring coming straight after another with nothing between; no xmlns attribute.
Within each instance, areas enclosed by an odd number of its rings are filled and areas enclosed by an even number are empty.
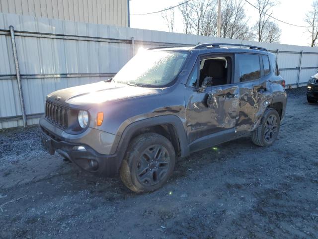
<svg viewBox="0 0 318 239"><path fill-rule="evenodd" d="M100 154L86 144L66 142L63 138L42 126L39 127L39 130L42 144L50 154L53 155L57 152L80 168L106 177L113 177L118 173L121 160L118 160L116 153L111 155ZM85 151L77 150L75 146L82 146Z"/></svg>

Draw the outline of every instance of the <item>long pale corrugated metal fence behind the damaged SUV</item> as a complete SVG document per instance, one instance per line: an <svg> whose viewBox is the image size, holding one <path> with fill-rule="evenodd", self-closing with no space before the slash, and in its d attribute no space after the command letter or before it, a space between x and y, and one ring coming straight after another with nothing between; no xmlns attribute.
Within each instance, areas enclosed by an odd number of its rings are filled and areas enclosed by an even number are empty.
<svg viewBox="0 0 318 239"><path fill-rule="evenodd" d="M22 126L23 117L28 125L38 123L47 94L110 78L141 46L208 42L266 47L277 54L287 85L306 84L317 72L318 49L312 47L0 13L0 128Z"/></svg>

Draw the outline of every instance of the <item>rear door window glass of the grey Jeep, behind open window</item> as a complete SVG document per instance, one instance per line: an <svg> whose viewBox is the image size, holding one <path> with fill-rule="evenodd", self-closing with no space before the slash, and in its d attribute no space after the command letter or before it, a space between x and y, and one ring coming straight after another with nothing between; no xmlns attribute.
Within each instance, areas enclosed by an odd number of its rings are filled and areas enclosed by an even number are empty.
<svg viewBox="0 0 318 239"><path fill-rule="evenodd" d="M239 82L252 81L260 78L259 56L254 54L238 54Z"/></svg>

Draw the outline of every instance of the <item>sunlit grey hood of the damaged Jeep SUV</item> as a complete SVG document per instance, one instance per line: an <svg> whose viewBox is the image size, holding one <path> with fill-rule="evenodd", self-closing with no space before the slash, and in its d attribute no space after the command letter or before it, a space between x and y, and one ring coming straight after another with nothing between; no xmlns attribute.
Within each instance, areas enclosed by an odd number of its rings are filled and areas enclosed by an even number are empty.
<svg viewBox="0 0 318 239"><path fill-rule="evenodd" d="M69 105L91 106L107 101L123 100L157 94L161 89L129 86L114 82L97 82L55 91L48 95L48 99L54 102L64 102Z"/></svg>

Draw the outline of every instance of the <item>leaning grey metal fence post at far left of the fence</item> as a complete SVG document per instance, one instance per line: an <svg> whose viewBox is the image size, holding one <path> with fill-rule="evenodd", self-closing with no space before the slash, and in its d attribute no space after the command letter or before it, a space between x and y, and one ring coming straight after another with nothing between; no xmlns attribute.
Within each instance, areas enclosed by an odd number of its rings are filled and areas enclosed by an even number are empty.
<svg viewBox="0 0 318 239"><path fill-rule="evenodd" d="M16 45L15 45L14 28L13 28L13 26L9 26L9 28L10 28L10 35L11 35L11 42L12 42L12 50L13 50L13 57L14 57L14 64L15 64L16 79L18 81L18 90L19 90L19 97L20 97L20 104L21 104L23 126L26 127L27 122L26 122L25 106L24 106L24 100L23 100L19 61L18 61L18 56L17 56L17 52L16 52Z"/></svg>

